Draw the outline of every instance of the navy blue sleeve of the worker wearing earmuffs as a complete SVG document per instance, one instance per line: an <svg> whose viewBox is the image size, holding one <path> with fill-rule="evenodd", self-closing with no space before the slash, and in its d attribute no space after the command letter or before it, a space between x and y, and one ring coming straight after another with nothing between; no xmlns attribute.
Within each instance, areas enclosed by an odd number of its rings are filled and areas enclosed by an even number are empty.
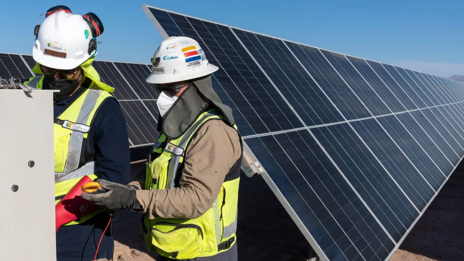
<svg viewBox="0 0 464 261"><path fill-rule="evenodd" d="M127 125L115 99L103 102L94 121L89 140L95 149L95 174L111 182L130 182L130 150Z"/></svg>

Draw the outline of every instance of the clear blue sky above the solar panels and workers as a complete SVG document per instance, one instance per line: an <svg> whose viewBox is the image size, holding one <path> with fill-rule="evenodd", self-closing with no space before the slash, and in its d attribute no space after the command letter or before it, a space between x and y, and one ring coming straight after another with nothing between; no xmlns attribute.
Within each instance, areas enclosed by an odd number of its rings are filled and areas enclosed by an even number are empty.
<svg viewBox="0 0 464 261"><path fill-rule="evenodd" d="M144 3L439 76L464 74L462 0L1 1L0 52L30 54L39 14L66 5L103 21L97 59L149 63L161 36Z"/></svg>

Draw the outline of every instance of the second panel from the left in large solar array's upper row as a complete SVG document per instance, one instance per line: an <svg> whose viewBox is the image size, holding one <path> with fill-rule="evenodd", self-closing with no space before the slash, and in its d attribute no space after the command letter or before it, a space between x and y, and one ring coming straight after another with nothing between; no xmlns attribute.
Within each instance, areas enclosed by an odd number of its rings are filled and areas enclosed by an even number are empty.
<svg viewBox="0 0 464 261"><path fill-rule="evenodd" d="M284 42L238 29L233 31L306 125L343 120Z"/></svg>

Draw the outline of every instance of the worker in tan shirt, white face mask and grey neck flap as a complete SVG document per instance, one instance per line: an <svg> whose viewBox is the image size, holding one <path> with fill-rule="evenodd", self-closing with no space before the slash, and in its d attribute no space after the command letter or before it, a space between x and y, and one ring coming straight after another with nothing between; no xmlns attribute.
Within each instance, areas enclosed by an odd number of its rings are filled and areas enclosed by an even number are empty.
<svg viewBox="0 0 464 261"><path fill-rule="evenodd" d="M158 141L146 171L129 185L97 180L107 190L82 197L108 209L141 212L142 234L157 261L237 261L241 138L232 109L213 91L197 41L170 37L152 59L159 93Z"/></svg>

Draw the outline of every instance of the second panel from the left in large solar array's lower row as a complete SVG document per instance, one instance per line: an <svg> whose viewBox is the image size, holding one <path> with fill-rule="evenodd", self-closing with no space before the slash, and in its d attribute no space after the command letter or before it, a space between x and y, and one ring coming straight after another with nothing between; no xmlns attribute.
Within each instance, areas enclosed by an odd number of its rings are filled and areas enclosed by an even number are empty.
<svg viewBox="0 0 464 261"><path fill-rule="evenodd" d="M387 232L399 241L419 212L393 180L387 178L386 171L360 138L347 123L320 127L311 132Z"/></svg>

